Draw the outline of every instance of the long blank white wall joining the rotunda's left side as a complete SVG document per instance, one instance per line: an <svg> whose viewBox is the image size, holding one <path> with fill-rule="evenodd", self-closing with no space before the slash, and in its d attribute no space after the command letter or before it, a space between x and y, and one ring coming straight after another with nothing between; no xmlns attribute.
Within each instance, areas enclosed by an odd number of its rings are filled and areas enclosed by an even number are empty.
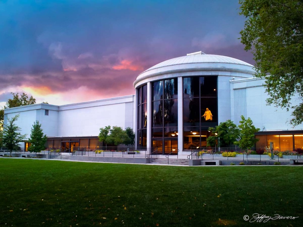
<svg viewBox="0 0 303 227"><path fill-rule="evenodd" d="M133 107L129 103L133 100L132 95L60 106L58 136L98 136L100 128L108 125L123 129L126 126L132 127L133 123L129 121L133 119L130 113Z"/></svg>

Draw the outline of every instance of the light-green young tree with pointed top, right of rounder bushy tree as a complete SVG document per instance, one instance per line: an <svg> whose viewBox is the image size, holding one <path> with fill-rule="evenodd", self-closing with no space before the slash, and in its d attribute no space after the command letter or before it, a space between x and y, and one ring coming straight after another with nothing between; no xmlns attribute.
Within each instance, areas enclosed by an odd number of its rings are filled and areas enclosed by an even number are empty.
<svg viewBox="0 0 303 227"><path fill-rule="evenodd" d="M240 129L240 140L235 142L235 145L238 145L241 149L248 150L249 148L255 146L255 143L258 142L259 139L255 138L255 133L260 129L256 128L252 120L248 117L245 119L243 115L241 115L241 120L239 122Z"/></svg>

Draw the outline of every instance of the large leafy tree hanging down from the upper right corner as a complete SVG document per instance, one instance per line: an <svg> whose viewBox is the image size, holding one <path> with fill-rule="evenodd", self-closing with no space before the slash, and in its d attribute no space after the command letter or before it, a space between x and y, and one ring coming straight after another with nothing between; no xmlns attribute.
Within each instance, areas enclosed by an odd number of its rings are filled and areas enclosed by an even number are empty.
<svg viewBox="0 0 303 227"><path fill-rule="evenodd" d="M303 122L303 2L239 0L245 50L253 50L256 77L265 77L267 104L293 108L290 123ZM299 104L291 104L298 96Z"/></svg>

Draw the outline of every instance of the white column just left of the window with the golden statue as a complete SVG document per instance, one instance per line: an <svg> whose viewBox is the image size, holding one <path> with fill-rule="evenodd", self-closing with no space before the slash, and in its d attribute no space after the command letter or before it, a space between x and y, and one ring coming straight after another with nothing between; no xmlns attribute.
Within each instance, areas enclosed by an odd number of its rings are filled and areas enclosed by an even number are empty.
<svg viewBox="0 0 303 227"><path fill-rule="evenodd" d="M178 149L183 151L183 81L178 77Z"/></svg>

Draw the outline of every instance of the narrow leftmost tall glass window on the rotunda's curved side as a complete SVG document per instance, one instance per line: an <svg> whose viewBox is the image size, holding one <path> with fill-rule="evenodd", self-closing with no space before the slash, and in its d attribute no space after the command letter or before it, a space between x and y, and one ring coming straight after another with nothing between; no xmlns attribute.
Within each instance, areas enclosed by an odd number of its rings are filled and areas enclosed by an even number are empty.
<svg viewBox="0 0 303 227"><path fill-rule="evenodd" d="M147 85L138 88L138 146L146 147L147 142Z"/></svg>

